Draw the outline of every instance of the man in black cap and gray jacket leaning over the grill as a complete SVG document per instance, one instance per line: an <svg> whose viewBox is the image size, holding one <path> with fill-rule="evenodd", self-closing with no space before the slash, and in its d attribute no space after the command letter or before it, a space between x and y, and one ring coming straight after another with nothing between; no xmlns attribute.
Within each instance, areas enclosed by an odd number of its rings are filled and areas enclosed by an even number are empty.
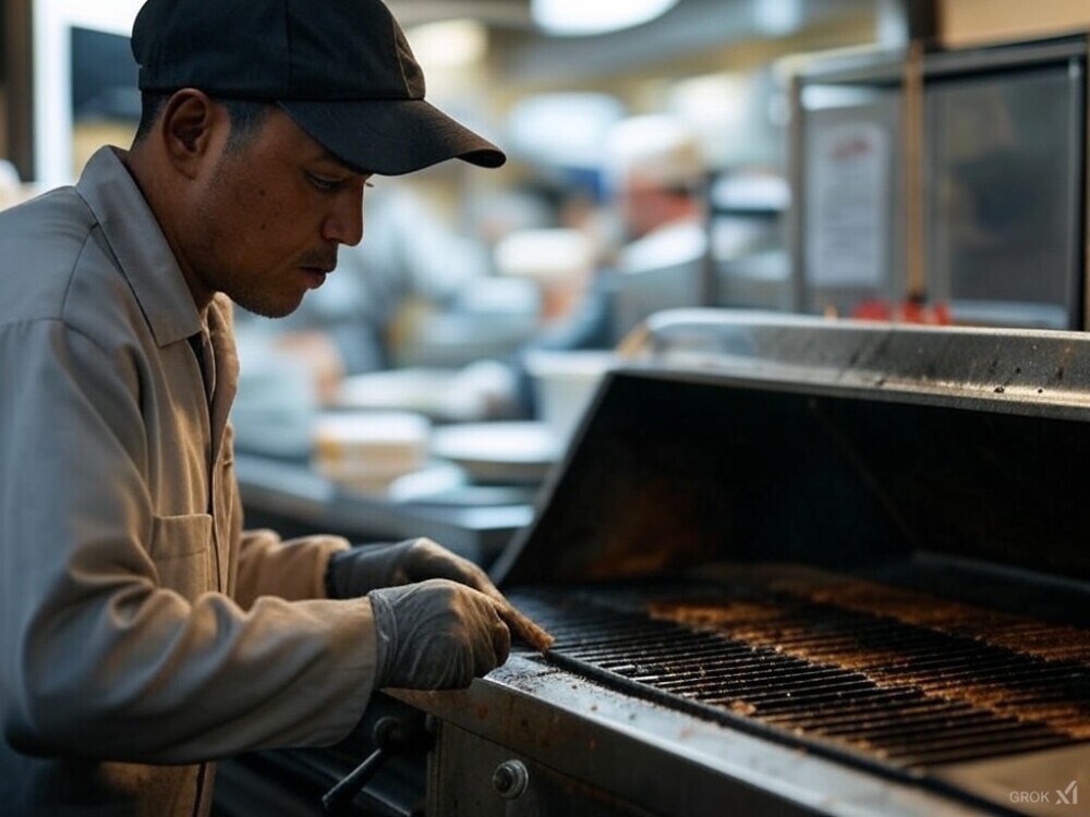
<svg viewBox="0 0 1090 817"><path fill-rule="evenodd" d="M207 814L238 752L335 742L532 627L434 542L242 532L230 301L299 306L372 174L502 154L423 101L380 0L149 0L144 119L0 217L0 810Z"/></svg>

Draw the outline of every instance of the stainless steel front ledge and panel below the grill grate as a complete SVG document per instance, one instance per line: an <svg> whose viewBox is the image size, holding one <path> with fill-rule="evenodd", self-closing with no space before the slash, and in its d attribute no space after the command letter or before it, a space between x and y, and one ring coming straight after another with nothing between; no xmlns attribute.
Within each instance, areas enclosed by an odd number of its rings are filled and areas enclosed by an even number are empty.
<svg viewBox="0 0 1090 817"><path fill-rule="evenodd" d="M436 716L439 753L432 758L428 815L989 814L910 779L862 773L610 688L530 654L513 655L464 692L392 695ZM524 802L525 810L504 810L512 804L492 790L491 779L496 764L509 758L530 768L528 797L552 803L553 810L533 810L532 800ZM548 790L540 796L538 784ZM452 805L456 794L471 798L469 805L460 801L463 810ZM603 803L614 810L593 810Z"/></svg>

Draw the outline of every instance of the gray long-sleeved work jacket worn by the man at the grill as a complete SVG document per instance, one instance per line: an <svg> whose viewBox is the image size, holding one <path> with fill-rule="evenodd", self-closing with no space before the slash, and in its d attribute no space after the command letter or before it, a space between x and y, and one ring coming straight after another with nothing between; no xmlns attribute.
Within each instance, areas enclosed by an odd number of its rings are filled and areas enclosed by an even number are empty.
<svg viewBox="0 0 1090 817"><path fill-rule="evenodd" d="M370 602L322 598L348 544L242 531L231 306L122 156L0 214L5 815L207 814L209 761L332 743L372 692Z"/></svg>

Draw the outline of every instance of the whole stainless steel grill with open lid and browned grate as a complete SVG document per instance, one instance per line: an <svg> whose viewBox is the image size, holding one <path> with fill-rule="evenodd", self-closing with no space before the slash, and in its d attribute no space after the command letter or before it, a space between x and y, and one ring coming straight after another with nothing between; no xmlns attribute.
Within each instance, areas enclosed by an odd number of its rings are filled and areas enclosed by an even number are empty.
<svg viewBox="0 0 1090 817"><path fill-rule="evenodd" d="M659 314L494 575L428 812L1079 814L1090 339Z"/></svg>

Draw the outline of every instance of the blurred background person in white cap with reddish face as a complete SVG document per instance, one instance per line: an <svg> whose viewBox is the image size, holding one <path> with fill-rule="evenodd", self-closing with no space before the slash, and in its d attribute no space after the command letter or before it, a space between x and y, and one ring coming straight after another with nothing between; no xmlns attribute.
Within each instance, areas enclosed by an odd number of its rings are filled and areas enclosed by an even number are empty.
<svg viewBox="0 0 1090 817"><path fill-rule="evenodd" d="M516 356L530 416L542 413L537 353L611 350L653 312L701 300L707 167L695 134L668 114L623 119L606 134L602 175L604 202L574 194L558 229L516 233L497 247L501 272L536 279L561 304Z"/></svg>

